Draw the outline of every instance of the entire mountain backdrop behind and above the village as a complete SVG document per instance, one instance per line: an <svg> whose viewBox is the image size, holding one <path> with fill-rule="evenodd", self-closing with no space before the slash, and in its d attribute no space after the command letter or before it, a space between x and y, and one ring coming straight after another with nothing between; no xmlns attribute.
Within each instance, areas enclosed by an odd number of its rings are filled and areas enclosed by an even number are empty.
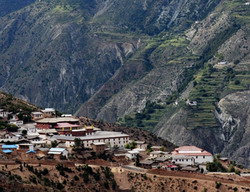
<svg viewBox="0 0 250 192"><path fill-rule="evenodd" d="M247 106L250 84L246 2L40 0L12 7L0 17L0 87L42 107L119 120L249 165L249 116L239 108Z"/></svg>

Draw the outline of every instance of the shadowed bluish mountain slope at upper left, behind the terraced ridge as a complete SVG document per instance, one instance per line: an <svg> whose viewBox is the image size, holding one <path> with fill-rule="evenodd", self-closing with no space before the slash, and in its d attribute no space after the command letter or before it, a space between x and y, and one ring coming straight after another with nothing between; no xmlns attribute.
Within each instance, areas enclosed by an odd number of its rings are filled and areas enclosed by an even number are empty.
<svg viewBox="0 0 250 192"><path fill-rule="evenodd" d="M0 18L0 86L40 106L74 112L108 80L119 77L126 85L152 68L147 51L156 47L146 47L149 35L182 31L217 3L35 1ZM122 86L108 89L114 94Z"/></svg>

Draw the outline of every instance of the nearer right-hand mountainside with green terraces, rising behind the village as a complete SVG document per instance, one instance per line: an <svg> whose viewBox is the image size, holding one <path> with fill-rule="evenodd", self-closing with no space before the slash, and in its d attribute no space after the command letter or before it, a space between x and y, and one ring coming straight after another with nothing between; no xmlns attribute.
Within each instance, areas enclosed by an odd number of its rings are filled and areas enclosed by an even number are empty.
<svg viewBox="0 0 250 192"><path fill-rule="evenodd" d="M154 44L153 69L113 95L95 117L120 118L123 125L152 131L176 145L197 145L248 166L248 92L242 91L249 89L249 14L244 2L223 1L184 34ZM217 65L221 61L227 64ZM83 110L95 106L103 93ZM187 99L197 106L187 105Z"/></svg>

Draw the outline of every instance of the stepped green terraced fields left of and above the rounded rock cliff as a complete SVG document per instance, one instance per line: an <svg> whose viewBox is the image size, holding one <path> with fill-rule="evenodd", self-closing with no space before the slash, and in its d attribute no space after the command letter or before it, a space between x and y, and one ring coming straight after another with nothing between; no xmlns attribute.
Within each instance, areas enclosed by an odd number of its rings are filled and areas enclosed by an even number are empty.
<svg viewBox="0 0 250 192"><path fill-rule="evenodd" d="M237 65L208 68L196 76L196 86L189 95L190 101L196 101L197 105L188 107L188 129L218 127L214 112L219 99L250 85L249 71L242 71Z"/></svg>

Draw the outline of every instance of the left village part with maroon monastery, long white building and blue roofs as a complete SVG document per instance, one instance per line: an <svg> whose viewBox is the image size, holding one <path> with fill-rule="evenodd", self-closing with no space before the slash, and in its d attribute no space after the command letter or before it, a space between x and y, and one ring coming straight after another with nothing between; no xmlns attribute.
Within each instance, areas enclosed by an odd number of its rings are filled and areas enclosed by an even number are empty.
<svg viewBox="0 0 250 192"><path fill-rule="evenodd" d="M0 117L4 120L12 114L4 110L0 111ZM92 149L96 153L101 153L106 148L124 148L130 141L130 136L127 134L101 131L94 126L82 125L80 120L72 115L56 117L53 108L32 112L31 116L34 122L18 124L17 132L0 130L2 158L6 157L5 154L10 158L21 154L26 154L28 158L41 158L46 155L68 158L76 139L81 141L84 148ZM53 143L57 143L57 147L52 148Z"/></svg>

